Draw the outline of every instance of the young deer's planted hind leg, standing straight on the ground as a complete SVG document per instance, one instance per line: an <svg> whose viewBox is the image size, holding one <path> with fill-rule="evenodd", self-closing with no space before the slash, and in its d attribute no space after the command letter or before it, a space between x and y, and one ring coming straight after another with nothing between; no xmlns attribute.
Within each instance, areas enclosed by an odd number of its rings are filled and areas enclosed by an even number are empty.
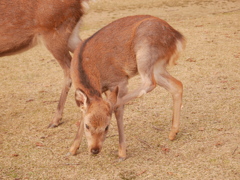
<svg viewBox="0 0 240 180"><path fill-rule="evenodd" d="M169 139L174 140L179 132L183 85L166 71L163 62L159 62L154 66L154 77L157 84L169 91L173 97L173 117Z"/></svg>

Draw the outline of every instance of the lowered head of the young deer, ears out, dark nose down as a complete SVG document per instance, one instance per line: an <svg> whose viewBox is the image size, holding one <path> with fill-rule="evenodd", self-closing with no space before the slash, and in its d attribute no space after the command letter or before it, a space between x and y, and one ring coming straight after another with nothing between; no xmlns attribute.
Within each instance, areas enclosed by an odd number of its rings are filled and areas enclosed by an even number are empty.
<svg viewBox="0 0 240 180"><path fill-rule="evenodd" d="M90 97L77 89L75 99L81 108L84 132L89 151L98 154L109 130L113 107L117 99L117 91L107 94L107 99Z"/></svg>

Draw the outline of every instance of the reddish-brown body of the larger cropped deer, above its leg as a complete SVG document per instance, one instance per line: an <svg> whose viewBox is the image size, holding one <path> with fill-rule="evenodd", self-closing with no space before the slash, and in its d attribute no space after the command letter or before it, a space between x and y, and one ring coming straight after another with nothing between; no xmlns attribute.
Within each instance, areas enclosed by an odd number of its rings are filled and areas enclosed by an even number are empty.
<svg viewBox="0 0 240 180"><path fill-rule="evenodd" d="M70 35L82 15L81 0L1 0L0 56L32 47L39 35Z"/></svg>

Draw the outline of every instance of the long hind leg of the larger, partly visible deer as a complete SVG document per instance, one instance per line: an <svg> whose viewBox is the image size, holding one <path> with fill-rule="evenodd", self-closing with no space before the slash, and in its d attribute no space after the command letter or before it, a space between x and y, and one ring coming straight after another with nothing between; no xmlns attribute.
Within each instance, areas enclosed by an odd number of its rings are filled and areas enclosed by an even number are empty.
<svg viewBox="0 0 240 180"><path fill-rule="evenodd" d="M68 51L68 37L68 34L60 32L48 33L43 36L47 49L57 59L64 73L64 83L61 96L58 102L56 113L52 122L49 124L49 128L57 127L60 124L64 105L72 84L70 77L71 55Z"/></svg>

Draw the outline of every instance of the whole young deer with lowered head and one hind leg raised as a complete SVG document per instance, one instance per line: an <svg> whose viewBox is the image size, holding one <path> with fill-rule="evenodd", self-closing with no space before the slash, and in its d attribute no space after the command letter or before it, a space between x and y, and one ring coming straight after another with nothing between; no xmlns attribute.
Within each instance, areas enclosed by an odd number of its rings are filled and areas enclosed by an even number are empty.
<svg viewBox="0 0 240 180"><path fill-rule="evenodd" d="M152 91L156 85L173 96L169 139L179 131L182 83L166 70L185 46L181 33L153 16L129 16L112 22L81 42L74 52L71 77L83 120L70 148L76 154L85 131L91 153L98 154L109 129L112 112L119 132L119 157L126 158L123 130L124 104ZM128 93L128 79L139 74L142 84ZM107 99L102 93L107 92Z"/></svg>

